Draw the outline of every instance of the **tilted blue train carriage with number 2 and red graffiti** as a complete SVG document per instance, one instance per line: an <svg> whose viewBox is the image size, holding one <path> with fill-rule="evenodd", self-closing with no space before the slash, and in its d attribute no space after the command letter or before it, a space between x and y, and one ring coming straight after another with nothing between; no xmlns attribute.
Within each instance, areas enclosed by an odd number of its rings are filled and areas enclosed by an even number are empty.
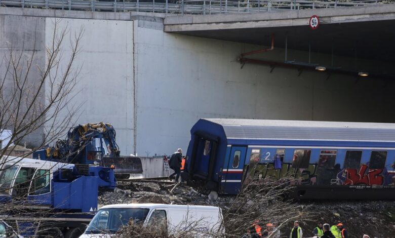
<svg viewBox="0 0 395 238"><path fill-rule="evenodd" d="M395 124L201 119L182 177L237 194L253 176L292 176L297 199L395 199Z"/></svg>

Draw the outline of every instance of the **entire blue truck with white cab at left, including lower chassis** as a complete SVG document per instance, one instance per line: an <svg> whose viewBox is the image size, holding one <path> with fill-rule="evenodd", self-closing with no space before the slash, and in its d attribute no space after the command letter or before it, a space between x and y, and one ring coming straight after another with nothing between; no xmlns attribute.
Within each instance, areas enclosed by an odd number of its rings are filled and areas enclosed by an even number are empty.
<svg viewBox="0 0 395 238"><path fill-rule="evenodd" d="M0 206L16 208L0 214L0 219L12 221L24 237L70 233L73 235L66 237L78 237L97 211L98 192L116 186L114 171L101 166L11 156L0 165L4 168L0 171ZM40 236L39 232L48 234Z"/></svg>

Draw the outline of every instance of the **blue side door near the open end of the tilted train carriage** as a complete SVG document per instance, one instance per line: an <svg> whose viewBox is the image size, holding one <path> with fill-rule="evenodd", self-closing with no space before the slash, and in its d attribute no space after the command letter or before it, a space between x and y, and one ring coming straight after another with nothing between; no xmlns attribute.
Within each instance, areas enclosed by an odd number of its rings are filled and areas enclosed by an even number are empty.
<svg viewBox="0 0 395 238"><path fill-rule="evenodd" d="M239 192L243 167L246 160L247 146L232 146L228 158L227 168L223 168L221 186L225 193L236 194Z"/></svg>

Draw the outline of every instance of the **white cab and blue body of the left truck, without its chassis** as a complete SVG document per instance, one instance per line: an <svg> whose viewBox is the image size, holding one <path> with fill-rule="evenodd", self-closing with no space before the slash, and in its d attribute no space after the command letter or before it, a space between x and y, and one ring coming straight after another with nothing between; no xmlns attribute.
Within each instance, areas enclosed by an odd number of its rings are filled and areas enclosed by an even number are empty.
<svg viewBox="0 0 395 238"><path fill-rule="evenodd" d="M0 172L0 201L27 201L51 209L90 212L98 189L116 186L110 168L64 164L9 156ZM71 201L70 201L71 200Z"/></svg>

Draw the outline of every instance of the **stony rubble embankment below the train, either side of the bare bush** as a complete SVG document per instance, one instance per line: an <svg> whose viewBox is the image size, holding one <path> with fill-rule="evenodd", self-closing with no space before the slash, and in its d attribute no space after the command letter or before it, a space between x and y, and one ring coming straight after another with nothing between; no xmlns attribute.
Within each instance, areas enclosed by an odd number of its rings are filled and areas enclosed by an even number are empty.
<svg viewBox="0 0 395 238"><path fill-rule="evenodd" d="M210 200L207 194L179 184L157 182L119 182L114 192L105 192L99 196L99 207L120 203L163 203L180 205L206 205L221 207L225 213L234 196L220 195L217 200ZM172 190L173 189L173 190ZM170 192L172 190L172 192ZM312 230L317 222L330 223L341 221L348 230L349 238L361 238L369 234L371 238L395 237L395 202L392 201L325 201L296 202L303 205L306 212L314 214L312 220L301 220L303 237L312 237ZM282 237L289 237L289 226L284 227Z"/></svg>

